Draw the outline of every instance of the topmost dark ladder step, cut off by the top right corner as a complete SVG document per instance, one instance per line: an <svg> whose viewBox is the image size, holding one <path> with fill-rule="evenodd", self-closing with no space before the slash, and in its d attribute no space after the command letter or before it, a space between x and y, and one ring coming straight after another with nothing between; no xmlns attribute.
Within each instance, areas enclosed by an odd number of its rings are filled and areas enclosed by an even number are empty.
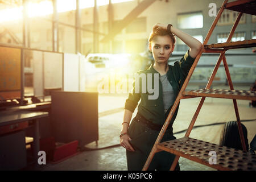
<svg viewBox="0 0 256 182"><path fill-rule="evenodd" d="M255 0L239 0L226 3L225 9L238 11L241 13L256 15L256 1Z"/></svg>

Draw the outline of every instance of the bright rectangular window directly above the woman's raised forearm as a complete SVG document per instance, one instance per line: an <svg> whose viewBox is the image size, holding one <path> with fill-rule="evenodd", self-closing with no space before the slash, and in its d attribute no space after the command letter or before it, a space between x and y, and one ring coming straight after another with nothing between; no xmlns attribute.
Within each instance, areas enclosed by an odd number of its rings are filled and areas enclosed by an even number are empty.
<svg viewBox="0 0 256 182"><path fill-rule="evenodd" d="M201 12L177 14L177 26L182 29L203 28Z"/></svg>

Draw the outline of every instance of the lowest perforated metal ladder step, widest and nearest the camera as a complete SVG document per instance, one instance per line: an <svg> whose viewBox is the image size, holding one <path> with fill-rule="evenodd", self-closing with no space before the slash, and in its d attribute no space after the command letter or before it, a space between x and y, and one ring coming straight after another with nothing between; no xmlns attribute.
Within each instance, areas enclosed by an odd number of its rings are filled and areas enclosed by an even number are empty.
<svg viewBox="0 0 256 182"><path fill-rule="evenodd" d="M160 150L179 155L197 163L219 170L256 170L256 155L235 148L219 146L189 137L162 142L157 145ZM210 151L216 152L216 164L210 164ZM210 160L214 162L214 160Z"/></svg>

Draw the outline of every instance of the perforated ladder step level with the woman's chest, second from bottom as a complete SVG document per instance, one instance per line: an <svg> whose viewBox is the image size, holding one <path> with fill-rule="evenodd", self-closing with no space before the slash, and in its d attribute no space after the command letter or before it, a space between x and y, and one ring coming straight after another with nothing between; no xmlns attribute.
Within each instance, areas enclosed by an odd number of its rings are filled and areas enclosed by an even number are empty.
<svg viewBox="0 0 256 182"><path fill-rule="evenodd" d="M199 89L199 90L184 91L183 96L229 98L229 99L249 100L249 101L256 100L256 92L246 91L246 90Z"/></svg>

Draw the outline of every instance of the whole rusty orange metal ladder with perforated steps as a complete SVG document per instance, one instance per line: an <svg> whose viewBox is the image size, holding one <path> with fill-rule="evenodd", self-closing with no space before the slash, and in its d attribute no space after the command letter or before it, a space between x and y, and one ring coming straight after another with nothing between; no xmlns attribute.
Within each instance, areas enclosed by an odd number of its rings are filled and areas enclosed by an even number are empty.
<svg viewBox="0 0 256 182"><path fill-rule="evenodd" d="M207 42L210 36L212 35L212 32L216 27L218 19L220 19L220 16L224 11L224 9L238 11L240 13L238 14L237 19L233 24L232 30L229 33L226 43L207 45ZM256 92L234 90L233 83L232 83L229 69L228 69L228 64L226 63L226 57L225 57L225 52L228 49L256 47L255 39L243 40L238 42L230 42L243 13L256 15L256 1L255 0L239 0L239 1L233 1L228 3L228 0L225 0L223 2L221 9L218 11L218 14L214 19L212 26L210 27L210 30L204 40L203 48L201 49L199 54L196 56L196 59L188 73L186 80L184 81L182 88L180 89L180 92L175 100L174 105L172 106L172 109L166 119L166 122L164 122L162 130L160 131L158 138L156 139L155 144L152 147L150 155L148 156L147 161L144 164L143 170L148 169L152 159L154 158L155 153L160 151L167 151L176 155L170 170L175 169L180 156L187 158L189 160L193 160L197 163L201 163L206 166L219 169L219 170L256 170L256 156L251 155L249 152L246 152L245 139L243 137L243 131L241 127L241 121L240 121L240 116L238 113L238 107L237 107L237 101L236 101L237 99L249 100L249 101L256 100ZM210 76L205 89L191 90L189 92L186 92L185 88L188 85L188 82L192 76L193 71L196 68L196 65L202 53L220 53L220 56L218 57L218 61L213 69L212 75ZM221 60L223 61L223 64L224 64L230 90L210 89L210 86L212 85L212 82L213 82L213 78L216 75L217 70L220 66ZM180 100L185 98L195 98L195 97L201 97L201 100L199 105L197 106L197 110L195 114L193 115L193 118L188 127L187 133L185 134L185 137L160 143L171 121L171 118L175 113L177 105L179 105ZM197 116L199 115L199 112L204 103L205 97L229 98L233 100L234 110L236 113L237 125L240 133L240 139L242 142L243 151L230 148L230 147L218 146L217 144L204 142L202 140L189 138L189 134L191 133L191 130L195 124ZM218 159L217 164L214 164L214 165L209 164L209 151L216 151L216 155L217 155L216 158Z"/></svg>

